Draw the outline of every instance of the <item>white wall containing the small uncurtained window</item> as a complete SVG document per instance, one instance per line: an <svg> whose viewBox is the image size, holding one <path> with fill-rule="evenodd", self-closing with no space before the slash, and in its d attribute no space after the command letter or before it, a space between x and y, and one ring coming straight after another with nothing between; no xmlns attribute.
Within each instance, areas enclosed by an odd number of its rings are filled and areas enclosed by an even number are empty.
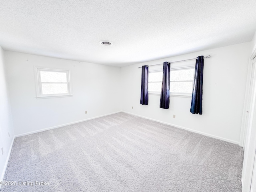
<svg viewBox="0 0 256 192"><path fill-rule="evenodd" d="M120 111L118 67L9 51L5 58L15 135ZM73 96L36 99L34 66L71 69Z"/></svg>

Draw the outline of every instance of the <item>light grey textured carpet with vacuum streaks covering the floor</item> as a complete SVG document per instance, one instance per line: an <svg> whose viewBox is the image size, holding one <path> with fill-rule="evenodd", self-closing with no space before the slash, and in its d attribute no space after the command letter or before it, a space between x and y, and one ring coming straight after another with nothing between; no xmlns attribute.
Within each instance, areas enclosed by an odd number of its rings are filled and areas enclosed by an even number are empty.
<svg viewBox="0 0 256 192"><path fill-rule="evenodd" d="M1 192L240 192L242 160L238 145L118 113L16 138L16 185Z"/></svg>

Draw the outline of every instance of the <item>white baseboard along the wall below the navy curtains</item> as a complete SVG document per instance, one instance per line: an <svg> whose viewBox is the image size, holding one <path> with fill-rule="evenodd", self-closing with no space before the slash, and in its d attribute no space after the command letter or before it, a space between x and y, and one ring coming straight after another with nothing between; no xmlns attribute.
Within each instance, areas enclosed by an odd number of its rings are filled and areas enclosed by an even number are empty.
<svg viewBox="0 0 256 192"><path fill-rule="evenodd" d="M212 138L215 138L215 139L220 139L220 140L223 140L223 141L226 141L226 142L230 142L230 143L239 145L239 142L234 141L234 140L222 138L222 137L219 137L219 136L215 136L215 135L212 135L212 134L200 132L200 131L193 130L193 129L190 129L190 128L186 128L186 127L178 126L178 125L175 125L175 124L167 123L167 122L164 122L164 121L159 121L159 120L156 120L156 119L148 118L148 117L137 115L137 114L134 114L134 113L130 113L130 112L126 112L126 111L122 111L122 112L127 113L127 114L131 114L131 115L134 115L134 116L142 117L142 118L145 118L145 119L149 119L149 120L152 120L152 121L156 121L156 122L159 122L159 123L162 123L162 124L166 124L166 125L174 126L174 127L181 128L181 129L184 129L184 130L188 130L190 132L198 133L198 134L201 134L201 135L204 135L204 136L212 137Z"/></svg>

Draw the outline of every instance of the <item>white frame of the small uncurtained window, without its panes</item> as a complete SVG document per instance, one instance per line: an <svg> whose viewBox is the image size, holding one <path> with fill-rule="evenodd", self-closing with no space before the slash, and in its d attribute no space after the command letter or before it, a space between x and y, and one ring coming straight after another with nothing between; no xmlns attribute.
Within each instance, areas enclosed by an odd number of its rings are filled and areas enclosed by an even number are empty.
<svg viewBox="0 0 256 192"><path fill-rule="evenodd" d="M67 84L67 86L68 86L68 93L65 93L65 94L42 94L42 84L44 82L41 81L41 76L40 76L41 71L66 73L67 82L65 84ZM35 82L36 82L36 98L37 99L73 96L72 85L71 85L71 70L70 69L58 69L58 68L46 68L46 67L34 66L34 74L35 74ZM60 83L60 82L50 82L49 84L51 84L51 83Z"/></svg>

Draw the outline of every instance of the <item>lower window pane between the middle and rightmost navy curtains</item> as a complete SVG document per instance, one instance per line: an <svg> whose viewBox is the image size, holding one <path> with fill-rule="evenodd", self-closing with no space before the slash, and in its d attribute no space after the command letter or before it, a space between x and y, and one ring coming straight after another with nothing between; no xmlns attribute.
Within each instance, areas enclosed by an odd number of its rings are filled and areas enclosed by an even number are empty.
<svg viewBox="0 0 256 192"><path fill-rule="evenodd" d="M170 92L192 93L193 82L170 82Z"/></svg>

